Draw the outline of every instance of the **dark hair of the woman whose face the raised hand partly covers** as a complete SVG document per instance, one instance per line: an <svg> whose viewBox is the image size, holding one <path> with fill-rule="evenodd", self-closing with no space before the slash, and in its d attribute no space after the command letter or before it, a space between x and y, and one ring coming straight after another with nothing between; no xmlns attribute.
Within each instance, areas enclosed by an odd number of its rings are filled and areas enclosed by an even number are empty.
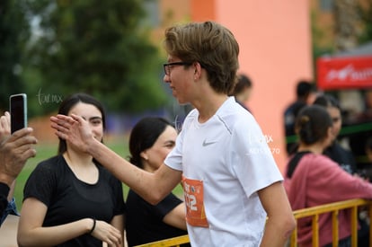
<svg viewBox="0 0 372 247"><path fill-rule="evenodd" d="M68 112L78 103L83 102L86 104L91 104L95 106L98 110L101 111L102 114L102 124L103 130L106 128L106 116L105 110L103 109L102 103L97 101L93 96L86 94L86 93L75 93L68 96L64 101L61 102L58 110L58 114L68 115ZM59 145L58 145L58 154L63 154L66 152L66 140L59 138Z"/></svg>

